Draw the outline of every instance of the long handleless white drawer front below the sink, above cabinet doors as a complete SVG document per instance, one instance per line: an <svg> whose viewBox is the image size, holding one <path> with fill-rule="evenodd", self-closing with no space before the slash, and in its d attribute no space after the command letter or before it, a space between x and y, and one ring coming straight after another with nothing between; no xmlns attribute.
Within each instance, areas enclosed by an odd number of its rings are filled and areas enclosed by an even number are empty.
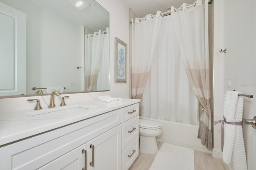
<svg viewBox="0 0 256 170"><path fill-rule="evenodd" d="M121 123L110 111L0 148L0 169L37 169Z"/></svg>

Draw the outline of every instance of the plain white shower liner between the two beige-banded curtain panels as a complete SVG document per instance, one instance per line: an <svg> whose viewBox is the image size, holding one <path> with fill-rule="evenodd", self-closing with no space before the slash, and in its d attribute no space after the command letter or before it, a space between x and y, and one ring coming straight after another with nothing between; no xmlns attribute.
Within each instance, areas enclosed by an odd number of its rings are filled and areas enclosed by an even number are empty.
<svg viewBox="0 0 256 170"><path fill-rule="evenodd" d="M141 98L141 116L198 123L198 100L190 88L169 16L162 19L150 75Z"/></svg>

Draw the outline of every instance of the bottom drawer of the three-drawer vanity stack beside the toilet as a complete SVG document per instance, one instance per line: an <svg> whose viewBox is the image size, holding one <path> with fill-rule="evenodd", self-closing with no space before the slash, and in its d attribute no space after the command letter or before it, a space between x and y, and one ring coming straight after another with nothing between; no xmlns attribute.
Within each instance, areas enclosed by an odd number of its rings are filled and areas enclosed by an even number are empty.
<svg viewBox="0 0 256 170"><path fill-rule="evenodd" d="M139 155L139 136L122 150L122 170L128 170Z"/></svg>

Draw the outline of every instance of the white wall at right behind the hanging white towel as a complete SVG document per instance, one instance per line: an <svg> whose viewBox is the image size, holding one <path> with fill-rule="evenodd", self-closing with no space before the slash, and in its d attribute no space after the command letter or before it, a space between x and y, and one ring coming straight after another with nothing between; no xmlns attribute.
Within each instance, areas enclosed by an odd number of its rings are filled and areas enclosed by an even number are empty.
<svg viewBox="0 0 256 170"><path fill-rule="evenodd" d="M255 21L250 2L233 0L214 1L214 120L223 119L224 92L237 90L252 94L253 86L253 24ZM246 9L246 12L238 12ZM227 53L220 49L227 48ZM227 80L231 78L231 87ZM252 99L244 97L244 118L252 119ZM214 125L214 152L218 157L221 149L220 124ZM252 168L252 127L243 124L248 169ZM255 129L254 129L255 130Z"/></svg>

